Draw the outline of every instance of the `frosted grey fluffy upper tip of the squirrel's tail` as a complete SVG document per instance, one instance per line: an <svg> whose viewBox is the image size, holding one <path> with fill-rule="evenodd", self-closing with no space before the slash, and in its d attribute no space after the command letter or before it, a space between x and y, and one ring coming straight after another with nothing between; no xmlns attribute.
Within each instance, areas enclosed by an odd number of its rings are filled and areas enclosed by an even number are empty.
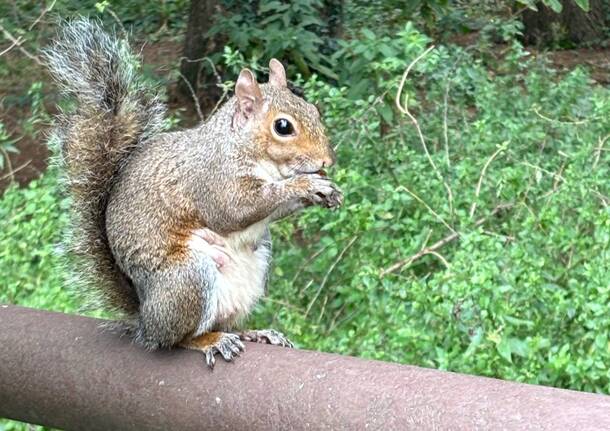
<svg viewBox="0 0 610 431"><path fill-rule="evenodd" d="M139 73L139 57L99 21L81 17L63 22L43 57L60 90L88 114L131 115L141 137L163 128L165 106Z"/></svg>

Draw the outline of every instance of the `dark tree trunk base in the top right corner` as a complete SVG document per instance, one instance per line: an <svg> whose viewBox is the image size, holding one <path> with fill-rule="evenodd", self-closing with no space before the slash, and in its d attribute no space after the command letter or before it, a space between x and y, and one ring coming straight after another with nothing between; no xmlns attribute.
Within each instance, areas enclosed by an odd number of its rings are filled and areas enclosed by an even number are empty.
<svg viewBox="0 0 610 431"><path fill-rule="evenodd" d="M555 13L538 3L538 12L523 13L523 38L527 44L580 45L600 42L605 34L606 12L604 0L590 0L589 12L583 11L574 0L561 0L563 9Z"/></svg>

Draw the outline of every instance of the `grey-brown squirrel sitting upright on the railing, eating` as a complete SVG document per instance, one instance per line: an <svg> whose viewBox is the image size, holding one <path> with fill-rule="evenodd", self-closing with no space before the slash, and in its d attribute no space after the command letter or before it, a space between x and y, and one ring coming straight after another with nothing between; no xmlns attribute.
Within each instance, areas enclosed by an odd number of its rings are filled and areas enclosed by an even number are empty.
<svg viewBox="0 0 610 431"><path fill-rule="evenodd" d="M292 347L278 331L236 331L265 293L269 224L305 207L337 208L335 163L317 108L282 64L269 82L241 70L209 119L164 132L165 107L127 41L79 18L44 58L74 112L52 141L72 201L68 246L93 296L131 322L147 349L183 347L232 361L243 341Z"/></svg>

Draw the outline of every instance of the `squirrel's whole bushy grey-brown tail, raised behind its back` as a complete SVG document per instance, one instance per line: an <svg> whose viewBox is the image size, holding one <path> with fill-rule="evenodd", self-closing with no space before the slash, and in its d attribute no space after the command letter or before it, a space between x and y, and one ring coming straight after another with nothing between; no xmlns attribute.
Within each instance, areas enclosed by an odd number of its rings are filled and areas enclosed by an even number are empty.
<svg viewBox="0 0 610 431"><path fill-rule="evenodd" d="M54 140L72 198L69 249L85 285L107 305L133 314L137 294L108 245L105 213L114 180L129 155L161 130L165 108L138 73L126 41L87 19L66 23L44 51L73 112L58 117Z"/></svg>

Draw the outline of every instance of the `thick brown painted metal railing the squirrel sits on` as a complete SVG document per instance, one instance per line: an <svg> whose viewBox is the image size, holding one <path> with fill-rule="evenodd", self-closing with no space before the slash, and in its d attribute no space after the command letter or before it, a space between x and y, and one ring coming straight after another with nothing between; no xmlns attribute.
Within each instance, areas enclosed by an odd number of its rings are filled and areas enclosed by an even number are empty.
<svg viewBox="0 0 610 431"><path fill-rule="evenodd" d="M68 430L609 430L610 397L248 344L211 371L99 320L0 306L0 417Z"/></svg>

